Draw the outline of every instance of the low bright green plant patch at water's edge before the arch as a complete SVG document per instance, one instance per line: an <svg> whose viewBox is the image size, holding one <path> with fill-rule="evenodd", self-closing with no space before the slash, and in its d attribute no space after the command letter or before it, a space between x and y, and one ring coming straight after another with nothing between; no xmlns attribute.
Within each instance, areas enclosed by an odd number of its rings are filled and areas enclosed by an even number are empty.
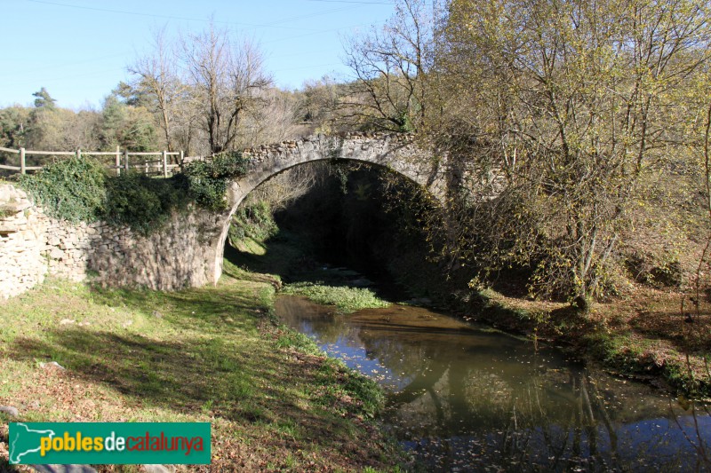
<svg viewBox="0 0 711 473"><path fill-rule="evenodd" d="M368 288L327 286L315 282L296 282L283 289L284 294L306 296L317 304L335 305L339 311L350 313L361 309L377 309L390 305Z"/></svg>

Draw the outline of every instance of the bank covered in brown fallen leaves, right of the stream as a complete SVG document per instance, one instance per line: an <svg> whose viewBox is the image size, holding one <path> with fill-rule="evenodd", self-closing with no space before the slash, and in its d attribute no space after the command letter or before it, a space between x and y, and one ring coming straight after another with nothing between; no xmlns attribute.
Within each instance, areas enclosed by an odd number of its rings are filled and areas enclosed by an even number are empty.
<svg viewBox="0 0 711 473"><path fill-rule="evenodd" d="M471 319L563 346L613 374L696 398L711 397L711 306L689 322L683 294L637 287L626 297L595 304L586 316L568 304L483 291L466 304Z"/></svg>

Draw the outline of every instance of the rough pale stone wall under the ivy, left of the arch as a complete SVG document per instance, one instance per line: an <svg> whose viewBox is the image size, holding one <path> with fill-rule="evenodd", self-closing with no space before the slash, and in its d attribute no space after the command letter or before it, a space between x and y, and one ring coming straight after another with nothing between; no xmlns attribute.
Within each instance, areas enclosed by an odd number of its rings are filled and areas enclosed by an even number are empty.
<svg viewBox="0 0 711 473"><path fill-rule="evenodd" d="M47 217L12 185L0 186L0 212L0 298L32 288L46 274L174 290L204 286L220 273L215 252L225 215L176 213L161 231L144 237L103 222Z"/></svg>

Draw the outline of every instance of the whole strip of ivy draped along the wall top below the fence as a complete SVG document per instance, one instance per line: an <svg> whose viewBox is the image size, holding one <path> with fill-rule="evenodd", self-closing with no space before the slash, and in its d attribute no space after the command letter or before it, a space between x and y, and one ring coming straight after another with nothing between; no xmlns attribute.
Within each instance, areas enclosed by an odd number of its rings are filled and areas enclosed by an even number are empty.
<svg viewBox="0 0 711 473"><path fill-rule="evenodd" d="M246 171L247 160L237 152L189 163L167 179L135 173L108 176L100 163L72 157L21 176L20 186L50 217L72 223L103 220L148 235L172 211L188 209L190 203L211 211L226 209L228 182Z"/></svg>

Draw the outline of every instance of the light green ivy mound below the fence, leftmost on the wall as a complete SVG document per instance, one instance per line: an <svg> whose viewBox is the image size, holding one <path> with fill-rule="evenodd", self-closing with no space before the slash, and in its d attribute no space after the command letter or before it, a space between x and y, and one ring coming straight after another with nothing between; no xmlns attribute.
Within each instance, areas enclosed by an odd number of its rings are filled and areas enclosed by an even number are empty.
<svg viewBox="0 0 711 473"><path fill-rule="evenodd" d="M106 171L100 163L71 157L20 177L25 189L54 218L92 222L106 199Z"/></svg>

